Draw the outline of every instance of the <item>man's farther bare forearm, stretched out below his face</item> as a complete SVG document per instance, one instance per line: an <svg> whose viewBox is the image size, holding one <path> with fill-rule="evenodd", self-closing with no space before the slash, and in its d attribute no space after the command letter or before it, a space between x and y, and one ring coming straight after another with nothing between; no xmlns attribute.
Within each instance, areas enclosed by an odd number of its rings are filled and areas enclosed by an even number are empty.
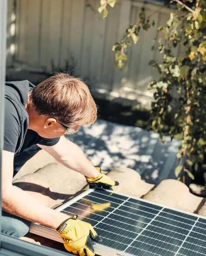
<svg viewBox="0 0 206 256"><path fill-rule="evenodd" d="M58 162L87 177L96 178L100 174L86 158L82 149L63 136L54 146L40 144L38 146L51 154Z"/></svg>

